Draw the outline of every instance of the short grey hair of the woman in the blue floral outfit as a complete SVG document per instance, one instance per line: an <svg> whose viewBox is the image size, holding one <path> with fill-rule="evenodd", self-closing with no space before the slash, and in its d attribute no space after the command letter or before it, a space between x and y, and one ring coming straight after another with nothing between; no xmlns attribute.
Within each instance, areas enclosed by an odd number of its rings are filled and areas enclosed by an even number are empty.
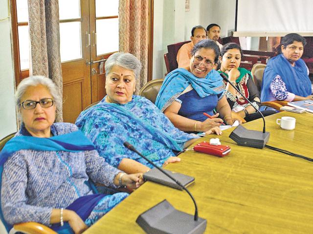
<svg viewBox="0 0 313 234"><path fill-rule="evenodd" d="M105 63L107 77L114 65L134 71L135 79L139 78L141 63L133 54L124 52L113 53Z"/></svg>

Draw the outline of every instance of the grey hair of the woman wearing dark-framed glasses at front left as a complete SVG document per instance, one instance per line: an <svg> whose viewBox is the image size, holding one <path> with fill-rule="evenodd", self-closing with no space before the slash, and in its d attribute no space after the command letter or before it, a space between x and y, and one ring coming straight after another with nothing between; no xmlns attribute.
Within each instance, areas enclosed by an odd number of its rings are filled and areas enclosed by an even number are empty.
<svg viewBox="0 0 313 234"><path fill-rule="evenodd" d="M42 86L45 86L47 88L47 90L49 91L49 93L53 97L53 100L54 100L53 103L56 106L56 109L61 110L62 98L58 92L57 86L55 85L55 83L51 79L49 79L45 76L42 76L42 75L33 75L33 76L28 77L28 78L25 78L18 85L18 87L16 88L16 92L15 92L15 105L16 105L17 109L20 110L21 98L25 94L28 87L37 86L37 85L42 85ZM21 119L20 113L18 115L19 115L19 118Z"/></svg>

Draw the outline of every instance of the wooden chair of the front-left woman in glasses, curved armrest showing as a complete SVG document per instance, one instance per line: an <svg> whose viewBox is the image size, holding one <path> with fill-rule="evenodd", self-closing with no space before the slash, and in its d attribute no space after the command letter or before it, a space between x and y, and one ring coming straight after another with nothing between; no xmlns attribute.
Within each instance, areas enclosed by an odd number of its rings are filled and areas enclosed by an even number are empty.
<svg viewBox="0 0 313 234"><path fill-rule="evenodd" d="M7 141L9 141L11 138L13 138L15 133L12 133L0 140L0 152L3 149L4 145ZM3 223L2 216L1 222ZM5 226L5 225L4 225ZM43 224L36 223L36 222L27 222L27 223L20 223L15 224L11 230L6 230L9 232L9 234L15 234L15 233L25 233L25 234L57 234L52 229L46 227Z"/></svg>

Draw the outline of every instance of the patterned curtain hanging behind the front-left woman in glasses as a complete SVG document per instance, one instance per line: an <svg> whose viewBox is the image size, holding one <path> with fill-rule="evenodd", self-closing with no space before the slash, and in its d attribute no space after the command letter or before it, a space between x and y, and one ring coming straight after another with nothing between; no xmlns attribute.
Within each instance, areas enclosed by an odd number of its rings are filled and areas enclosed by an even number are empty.
<svg viewBox="0 0 313 234"><path fill-rule="evenodd" d="M30 74L52 79L63 95L58 0L28 0ZM63 121L62 107L56 121Z"/></svg>

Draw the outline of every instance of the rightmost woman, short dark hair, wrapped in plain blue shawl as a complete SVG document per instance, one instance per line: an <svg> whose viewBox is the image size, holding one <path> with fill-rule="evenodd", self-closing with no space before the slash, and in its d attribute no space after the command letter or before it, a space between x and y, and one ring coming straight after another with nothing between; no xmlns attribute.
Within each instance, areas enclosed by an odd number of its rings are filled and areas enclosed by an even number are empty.
<svg viewBox="0 0 313 234"><path fill-rule="evenodd" d="M264 71L261 101L313 100L309 69L301 59L305 45L305 38L296 33L282 38L280 54Z"/></svg>

